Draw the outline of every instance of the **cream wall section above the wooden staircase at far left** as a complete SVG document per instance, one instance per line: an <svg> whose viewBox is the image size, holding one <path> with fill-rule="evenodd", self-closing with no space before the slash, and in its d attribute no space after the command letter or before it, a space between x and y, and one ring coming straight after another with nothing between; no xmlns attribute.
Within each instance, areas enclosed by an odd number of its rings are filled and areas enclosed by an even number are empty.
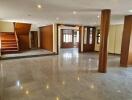
<svg viewBox="0 0 132 100"><path fill-rule="evenodd" d="M0 21L0 32L14 32L13 22Z"/></svg>

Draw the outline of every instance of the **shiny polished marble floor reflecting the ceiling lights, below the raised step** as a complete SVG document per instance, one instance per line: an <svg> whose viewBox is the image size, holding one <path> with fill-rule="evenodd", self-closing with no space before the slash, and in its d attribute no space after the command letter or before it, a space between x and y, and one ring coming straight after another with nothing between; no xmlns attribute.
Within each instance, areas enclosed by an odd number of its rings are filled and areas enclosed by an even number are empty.
<svg viewBox="0 0 132 100"><path fill-rule="evenodd" d="M119 67L119 56L109 55L106 74L98 53L77 49L0 63L0 100L132 100L132 67Z"/></svg>

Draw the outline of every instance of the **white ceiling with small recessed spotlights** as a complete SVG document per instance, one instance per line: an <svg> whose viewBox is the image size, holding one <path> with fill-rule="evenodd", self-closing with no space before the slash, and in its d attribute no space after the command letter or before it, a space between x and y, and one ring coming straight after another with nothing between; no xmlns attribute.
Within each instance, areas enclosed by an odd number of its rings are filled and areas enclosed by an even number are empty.
<svg viewBox="0 0 132 100"><path fill-rule="evenodd" d="M42 4L42 9L37 8L38 4ZM0 19L39 26L53 23L95 25L100 22L97 16L101 9L111 9L111 23L120 24L124 15L132 14L128 11L132 9L132 0L0 0Z"/></svg>

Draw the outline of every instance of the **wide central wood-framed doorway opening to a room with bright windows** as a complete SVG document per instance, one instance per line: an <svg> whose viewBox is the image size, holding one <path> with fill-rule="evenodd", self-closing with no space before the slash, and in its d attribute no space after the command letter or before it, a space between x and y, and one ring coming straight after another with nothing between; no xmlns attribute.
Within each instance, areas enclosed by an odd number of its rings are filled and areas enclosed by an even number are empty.
<svg viewBox="0 0 132 100"><path fill-rule="evenodd" d="M81 52L81 32L82 27L78 25L57 24L58 54L65 51Z"/></svg>

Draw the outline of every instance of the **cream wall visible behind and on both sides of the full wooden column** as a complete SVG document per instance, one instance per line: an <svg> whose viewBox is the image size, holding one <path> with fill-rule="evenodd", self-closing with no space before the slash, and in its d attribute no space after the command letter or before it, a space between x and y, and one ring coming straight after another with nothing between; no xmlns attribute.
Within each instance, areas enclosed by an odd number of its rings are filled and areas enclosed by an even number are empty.
<svg viewBox="0 0 132 100"><path fill-rule="evenodd" d="M123 33L123 25L110 26L109 36L108 36L108 52L109 53L115 53L115 54L121 53L122 33ZM97 40L96 40L95 51L99 51L99 47L100 47L100 44L97 44Z"/></svg>

